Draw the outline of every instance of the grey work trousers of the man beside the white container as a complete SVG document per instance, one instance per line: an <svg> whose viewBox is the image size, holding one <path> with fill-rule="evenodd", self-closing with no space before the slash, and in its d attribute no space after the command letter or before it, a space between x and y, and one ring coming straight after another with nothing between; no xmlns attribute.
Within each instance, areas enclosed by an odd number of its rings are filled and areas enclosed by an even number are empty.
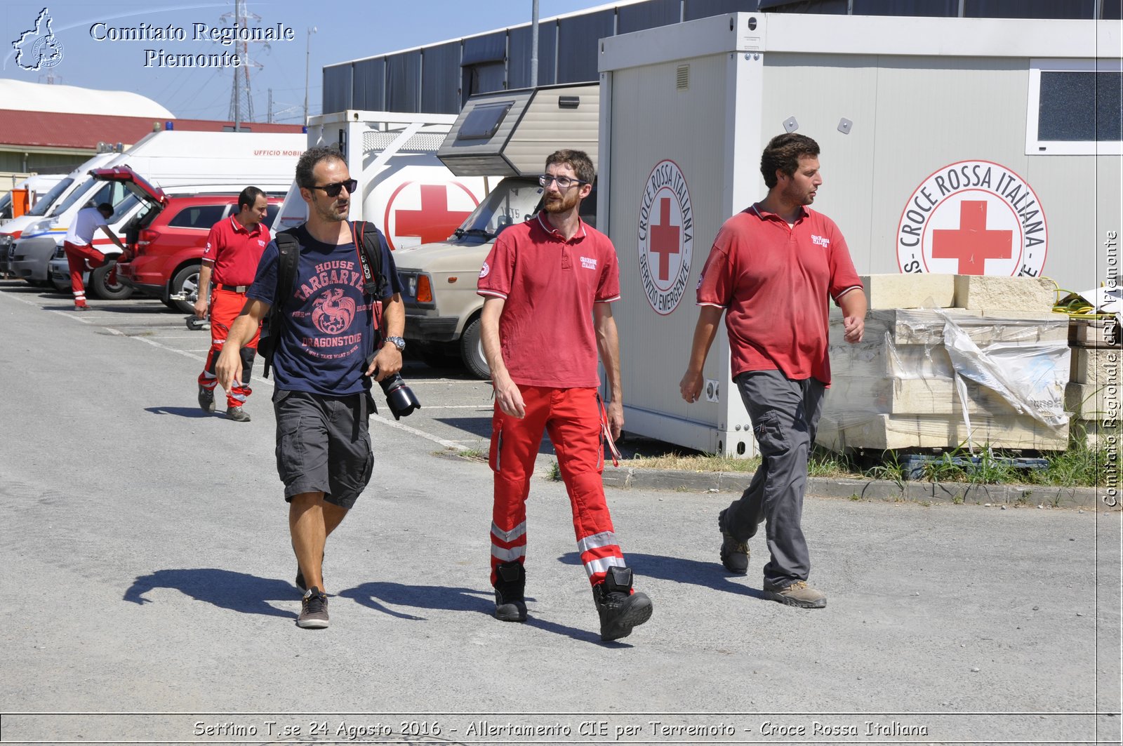
<svg viewBox="0 0 1123 746"><path fill-rule="evenodd" d="M749 371L734 379L760 446L760 468L725 511L725 530L747 542L765 522L770 558L765 582L786 588L807 580L811 557L800 526L807 486L807 456L827 386L791 380L779 371Z"/></svg>

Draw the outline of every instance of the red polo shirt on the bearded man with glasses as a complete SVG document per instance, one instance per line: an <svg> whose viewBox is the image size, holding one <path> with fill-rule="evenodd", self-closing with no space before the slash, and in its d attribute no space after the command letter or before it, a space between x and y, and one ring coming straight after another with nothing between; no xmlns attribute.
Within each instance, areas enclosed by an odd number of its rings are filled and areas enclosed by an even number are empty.
<svg viewBox="0 0 1123 746"><path fill-rule="evenodd" d="M499 235L476 288L484 298L504 299L499 337L512 381L558 389L600 384L593 303L620 298L608 236L582 222L567 242L539 212Z"/></svg>

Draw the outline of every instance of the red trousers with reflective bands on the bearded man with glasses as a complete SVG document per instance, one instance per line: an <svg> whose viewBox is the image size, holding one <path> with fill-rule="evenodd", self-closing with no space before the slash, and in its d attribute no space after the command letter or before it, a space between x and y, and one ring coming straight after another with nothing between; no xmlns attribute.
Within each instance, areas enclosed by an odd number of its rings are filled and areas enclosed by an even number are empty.
<svg viewBox="0 0 1123 746"><path fill-rule="evenodd" d="M544 428L550 434L558 468L569 492L581 562L593 585L603 583L608 568L623 567L624 558L617 545L601 482L604 455L596 389L520 385L519 391L527 409L522 419L504 415L497 403L492 417L490 462L495 473L492 584L495 584L499 564L526 560L526 503Z"/></svg>

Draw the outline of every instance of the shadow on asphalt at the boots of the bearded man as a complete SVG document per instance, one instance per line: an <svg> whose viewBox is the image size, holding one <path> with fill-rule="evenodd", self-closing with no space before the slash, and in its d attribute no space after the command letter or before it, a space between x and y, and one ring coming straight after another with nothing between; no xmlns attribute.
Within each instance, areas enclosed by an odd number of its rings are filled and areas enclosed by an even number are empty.
<svg viewBox="0 0 1123 746"><path fill-rule="evenodd" d="M395 607L413 607L414 609L439 609L447 611L472 611L484 613L491 617L495 611L495 602L492 591L477 591L469 588L448 588L446 585L403 585L401 583L371 582L356 585L355 588L337 593L340 598L351 599L375 611L382 611L396 619L408 619L411 621L424 621L424 617L418 617L402 611L395 611L385 604ZM533 603L533 597L527 597L527 601ZM573 639L586 643L601 643L601 636L585 629L567 627L533 616L526 624L544 631L564 635ZM594 617L595 619L595 617ZM506 624L496 621L495 624ZM613 643L612 645L617 645Z"/></svg>

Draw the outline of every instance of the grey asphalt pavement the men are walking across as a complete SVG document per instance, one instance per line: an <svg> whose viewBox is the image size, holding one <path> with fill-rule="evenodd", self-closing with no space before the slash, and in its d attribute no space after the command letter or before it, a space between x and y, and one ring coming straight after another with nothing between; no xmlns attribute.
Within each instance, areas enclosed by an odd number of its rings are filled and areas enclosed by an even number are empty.
<svg viewBox="0 0 1123 746"><path fill-rule="evenodd" d="M331 626L299 629L272 386L204 415L204 333L92 304L0 281L0 743L1120 743L1119 510L809 495L802 610L764 599L763 543L721 567L729 492L610 488L655 613L602 643L544 470L504 624L491 473L455 455L487 386L420 365L329 540Z"/></svg>

